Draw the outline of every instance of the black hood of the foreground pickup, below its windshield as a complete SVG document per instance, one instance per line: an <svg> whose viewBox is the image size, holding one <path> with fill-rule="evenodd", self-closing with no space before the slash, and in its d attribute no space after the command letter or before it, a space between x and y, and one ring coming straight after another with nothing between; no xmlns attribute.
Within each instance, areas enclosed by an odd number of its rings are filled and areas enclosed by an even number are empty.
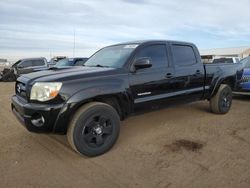
<svg viewBox="0 0 250 188"><path fill-rule="evenodd" d="M115 68L104 68L104 67L60 67L52 68L45 71L38 71L22 75L23 78L32 81L69 81L73 79L97 77L114 75L120 72L119 69Z"/></svg>

